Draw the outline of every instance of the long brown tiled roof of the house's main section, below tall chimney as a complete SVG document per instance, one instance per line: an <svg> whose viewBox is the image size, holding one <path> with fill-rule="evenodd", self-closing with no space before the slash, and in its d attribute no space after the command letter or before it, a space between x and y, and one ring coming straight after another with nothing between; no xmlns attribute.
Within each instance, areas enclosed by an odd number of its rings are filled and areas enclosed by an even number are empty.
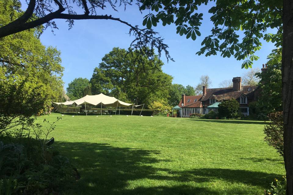
<svg viewBox="0 0 293 195"><path fill-rule="evenodd" d="M251 88L251 91L248 91L248 88ZM232 87L207 89L207 93L202 97L201 101L208 100L212 95L217 100L229 100L232 98L237 99L242 94L245 94L248 98L250 98L253 94L252 92L254 92L256 88L257 86L242 86L240 91L234 91Z"/></svg>

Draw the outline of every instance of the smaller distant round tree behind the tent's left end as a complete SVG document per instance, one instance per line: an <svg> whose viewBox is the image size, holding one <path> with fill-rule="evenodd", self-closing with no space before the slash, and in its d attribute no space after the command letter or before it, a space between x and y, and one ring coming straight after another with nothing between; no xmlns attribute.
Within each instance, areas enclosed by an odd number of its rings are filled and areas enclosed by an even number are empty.
<svg viewBox="0 0 293 195"><path fill-rule="evenodd" d="M66 88L67 96L71 100L82 98L84 96L84 90L87 86L89 86L89 80L87 78L75 78Z"/></svg>

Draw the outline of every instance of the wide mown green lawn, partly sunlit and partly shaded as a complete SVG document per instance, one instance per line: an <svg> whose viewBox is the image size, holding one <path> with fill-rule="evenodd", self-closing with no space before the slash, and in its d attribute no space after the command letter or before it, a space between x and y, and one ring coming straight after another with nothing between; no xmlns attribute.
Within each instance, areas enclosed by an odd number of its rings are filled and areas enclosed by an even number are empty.
<svg viewBox="0 0 293 195"><path fill-rule="evenodd" d="M50 137L81 175L66 194L254 195L285 174L282 158L263 141L265 124L64 115Z"/></svg>

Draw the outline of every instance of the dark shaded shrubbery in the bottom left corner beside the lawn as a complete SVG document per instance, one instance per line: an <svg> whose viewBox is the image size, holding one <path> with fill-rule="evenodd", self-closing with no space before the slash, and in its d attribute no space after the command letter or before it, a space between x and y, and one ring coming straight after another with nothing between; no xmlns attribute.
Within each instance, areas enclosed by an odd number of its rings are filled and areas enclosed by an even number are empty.
<svg viewBox="0 0 293 195"><path fill-rule="evenodd" d="M32 151L31 141L36 152ZM39 142L32 138L22 142L29 147L0 141L0 194L43 194L44 191L49 194L75 181L74 169L67 158L49 148L45 152L46 159L40 158L38 151L42 145Z"/></svg>

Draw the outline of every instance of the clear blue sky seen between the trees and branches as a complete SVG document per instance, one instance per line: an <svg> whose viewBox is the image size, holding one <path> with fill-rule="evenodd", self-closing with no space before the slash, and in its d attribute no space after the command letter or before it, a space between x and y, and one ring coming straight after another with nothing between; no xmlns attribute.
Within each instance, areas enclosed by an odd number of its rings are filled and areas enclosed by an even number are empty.
<svg viewBox="0 0 293 195"><path fill-rule="evenodd" d="M213 3L213 2L212 2ZM23 9L25 9L23 3ZM208 9L212 6L201 5L197 10L203 13L204 20L200 27L201 36L195 41L191 38L176 34L175 24L166 25L158 23L157 27L152 27L154 31L160 33L165 39L165 44L169 46L169 53L175 60L172 62L162 54L161 60L164 62L163 71L173 76L173 83L184 86L196 86L199 83L201 75L208 75L211 78L212 86L219 87L223 80L232 80L235 76L242 76L246 69L241 69L243 61L237 61L234 57L222 58L220 54L216 56L205 57L198 56L195 53L201 48L201 42L204 37L210 34L213 23L210 21L211 14ZM78 14L83 14L82 9L78 9ZM118 12L111 8L98 10L98 15L107 14L118 17L128 23L142 27L144 12L141 14L136 5L119 7ZM46 46L56 47L61 51L64 88L68 86L74 78L82 77L90 79L95 67L99 65L102 57L109 53L113 47L127 49L134 39L129 36L129 27L118 21L112 20L76 20L72 29L68 30L68 24L63 19L54 20L59 29L51 32L47 29L41 35L40 39ZM262 49L256 52L259 60L254 62L253 67L262 68L266 63L266 57L271 53L275 46L272 43L262 41Z"/></svg>

